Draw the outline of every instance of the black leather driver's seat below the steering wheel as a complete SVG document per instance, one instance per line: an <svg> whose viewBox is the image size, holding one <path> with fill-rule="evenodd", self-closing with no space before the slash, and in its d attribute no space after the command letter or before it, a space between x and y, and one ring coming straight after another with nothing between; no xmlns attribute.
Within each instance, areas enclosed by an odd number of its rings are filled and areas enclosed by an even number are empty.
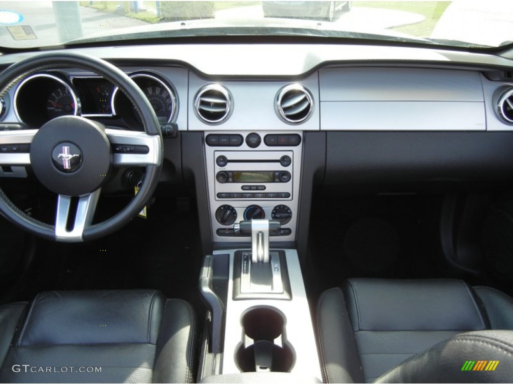
<svg viewBox="0 0 513 384"><path fill-rule="evenodd" d="M0 382L191 382L194 334L159 291L44 292L0 306Z"/></svg>

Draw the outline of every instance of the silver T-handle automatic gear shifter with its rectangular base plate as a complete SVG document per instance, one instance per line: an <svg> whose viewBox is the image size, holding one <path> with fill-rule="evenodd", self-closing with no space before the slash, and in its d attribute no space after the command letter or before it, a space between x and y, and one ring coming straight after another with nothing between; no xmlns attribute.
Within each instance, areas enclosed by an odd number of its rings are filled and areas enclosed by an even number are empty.
<svg viewBox="0 0 513 384"><path fill-rule="evenodd" d="M288 298L289 294L285 292L285 286L289 286L285 259L280 251L269 251L269 232L280 230L280 223L247 220L234 224L233 228L242 234L251 234L251 252L240 251L239 263L235 263L234 275L240 281L237 293L249 295L247 298L257 298L259 294Z"/></svg>

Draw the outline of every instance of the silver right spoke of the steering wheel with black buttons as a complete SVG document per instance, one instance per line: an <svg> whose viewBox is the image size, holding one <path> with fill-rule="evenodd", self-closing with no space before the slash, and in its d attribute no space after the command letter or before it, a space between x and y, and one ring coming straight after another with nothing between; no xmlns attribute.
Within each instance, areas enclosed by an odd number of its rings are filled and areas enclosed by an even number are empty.
<svg viewBox="0 0 513 384"><path fill-rule="evenodd" d="M106 129L113 152L112 165L162 164L162 138L145 132Z"/></svg>

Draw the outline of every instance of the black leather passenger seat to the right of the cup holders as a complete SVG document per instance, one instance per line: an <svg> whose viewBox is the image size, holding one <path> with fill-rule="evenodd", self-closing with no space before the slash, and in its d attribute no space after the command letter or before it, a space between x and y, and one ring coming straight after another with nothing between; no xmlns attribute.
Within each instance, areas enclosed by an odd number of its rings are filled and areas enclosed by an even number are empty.
<svg viewBox="0 0 513 384"><path fill-rule="evenodd" d="M513 299L492 288L459 280L351 279L321 295L317 325L327 382L513 377L513 331L489 331L513 330ZM467 360L500 364L495 371L462 371Z"/></svg>

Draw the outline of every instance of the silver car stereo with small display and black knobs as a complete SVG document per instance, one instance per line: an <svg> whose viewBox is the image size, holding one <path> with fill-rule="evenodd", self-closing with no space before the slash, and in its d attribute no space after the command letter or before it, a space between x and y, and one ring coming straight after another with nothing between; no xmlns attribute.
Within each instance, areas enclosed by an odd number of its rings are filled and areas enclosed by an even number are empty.
<svg viewBox="0 0 513 384"><path fill-rule="evenodd" d="M292 151L214 151L216 200L292 199Z"/></svg>

